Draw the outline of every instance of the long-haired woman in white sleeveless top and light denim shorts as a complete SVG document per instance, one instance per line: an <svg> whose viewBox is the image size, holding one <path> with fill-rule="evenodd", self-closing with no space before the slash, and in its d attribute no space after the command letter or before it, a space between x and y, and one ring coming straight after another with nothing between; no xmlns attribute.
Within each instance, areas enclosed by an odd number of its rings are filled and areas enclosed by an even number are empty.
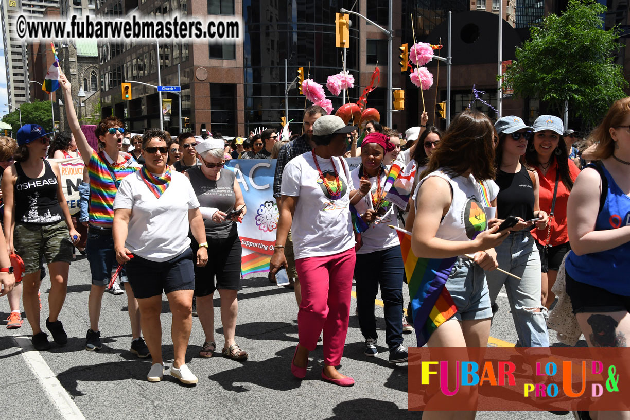
<svg viewBox="0 0 630 420"><path fill-rule="evenodd" d="M507 230L498 233L497 225L488 229L491 202L498 194L491 181L495 177L495 140L495 127L488 116L479 111L463 111L450 123L420 175L411 249L421 258L444 263L454 260L444 287L457 312L441 314L447 317L441 324L429 315L437 329L426 334L416 328L418 346L425 340L429 347L441 348L483 348L488 344L492 310L484 270L495 270L493 247L508 235ZM448 268L444 272L447 271ZM411 289L415 279L408 280ZM442 287L437 289L441 291ZM418 295L411 298L417 302L421 293L418 290ZM425 325L427 319L419 316L428 309L421 305L414 308L416 326ZM443 414L425 411L423 419L443 418Z"/></svg>

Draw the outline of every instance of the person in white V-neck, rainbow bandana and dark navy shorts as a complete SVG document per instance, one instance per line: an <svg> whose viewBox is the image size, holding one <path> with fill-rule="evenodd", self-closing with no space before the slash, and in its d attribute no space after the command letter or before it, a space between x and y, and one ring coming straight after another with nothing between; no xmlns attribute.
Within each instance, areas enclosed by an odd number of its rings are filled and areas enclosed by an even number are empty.
<svg viewBox="0 0 630 420"><path fill-rule="evenodd" d="M140 325L151 351L147 380L159 382L164 376L160 323L164 292L173 314L175 360L171 375L183 383L197 383L185 364L195 288L188 228L199 244L197 266L208 262L208 244L190 181L166 164L167 142L168 136L161 130L147 130L142 135L144 166L122 180L114 200L114 249L118 263L126 263L129 285L140 308Z"/></svg>

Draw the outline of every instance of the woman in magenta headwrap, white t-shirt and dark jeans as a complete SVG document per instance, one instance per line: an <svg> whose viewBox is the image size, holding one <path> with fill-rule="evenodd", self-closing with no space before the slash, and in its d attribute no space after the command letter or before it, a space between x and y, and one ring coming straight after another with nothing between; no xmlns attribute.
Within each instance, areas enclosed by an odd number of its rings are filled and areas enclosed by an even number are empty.
<svg viewBox="0 0 630 420"><path fill-rule="evenodd" d="M362 233L363 245L357 251L355 278L357 280L358 324L365 338L365 356L376 356L376 319L374 299L381 288L384 303L385 342L389 348L389 363L403 363L407 350L403 346L403 257L396 230L387 225L398 226L398 207L383 198L383 187L387 179L383 166L387 153L396 145L386 134L370 133L361 145L361 164L350 173L352 184L358 190L350 191L358 214L370 227Z"/></svg>

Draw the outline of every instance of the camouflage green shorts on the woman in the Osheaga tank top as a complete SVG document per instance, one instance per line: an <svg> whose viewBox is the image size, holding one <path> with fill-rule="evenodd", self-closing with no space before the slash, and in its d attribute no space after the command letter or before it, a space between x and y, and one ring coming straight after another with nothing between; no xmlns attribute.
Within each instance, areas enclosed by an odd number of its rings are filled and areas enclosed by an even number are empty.
<svg viewBox="0 0 630 420"><path fill-rule="evenodd" d="M13 246L24 260L25 275L40 270L42 256L49 264L72 261L72 242L64 221L52 225L16 223Z"/></svg>

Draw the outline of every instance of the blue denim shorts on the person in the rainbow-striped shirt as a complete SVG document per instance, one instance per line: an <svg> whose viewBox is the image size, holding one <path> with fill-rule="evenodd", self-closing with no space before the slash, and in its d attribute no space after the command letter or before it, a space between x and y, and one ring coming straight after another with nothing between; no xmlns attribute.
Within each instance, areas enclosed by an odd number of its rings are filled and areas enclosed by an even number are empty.
<svg viewBox="0 0 630 420"><path fill-rule="evenodd" d="M86 251L88 252L92 284L95 286L108 285L112 279L112 268L118 266L114 252L112 229L88 227Z"/></svg>

